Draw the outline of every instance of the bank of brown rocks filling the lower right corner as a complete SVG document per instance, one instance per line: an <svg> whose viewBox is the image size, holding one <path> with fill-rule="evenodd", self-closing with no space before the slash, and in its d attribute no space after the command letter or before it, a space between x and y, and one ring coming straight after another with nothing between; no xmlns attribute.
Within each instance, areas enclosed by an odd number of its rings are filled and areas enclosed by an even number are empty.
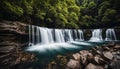
<svg viewBox="0 0 120 69"><path fill-rule="evenodd" d="M48 69L119 69L120 44L96 46L67 56L58 55Z"/></svg>

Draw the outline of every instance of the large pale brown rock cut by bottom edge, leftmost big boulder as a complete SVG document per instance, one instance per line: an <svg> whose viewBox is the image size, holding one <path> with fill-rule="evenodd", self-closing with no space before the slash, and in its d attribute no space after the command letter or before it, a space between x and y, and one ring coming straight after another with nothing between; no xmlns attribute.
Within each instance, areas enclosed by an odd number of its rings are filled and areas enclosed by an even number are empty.
<svg viewBox="0 0 120 69"><path fill-rule="evenodd" d="M67 69L69 69L69 68L71 68L71 69L79 69L80 68L79 61L70 59L70 61L67 64Z"/></svg>

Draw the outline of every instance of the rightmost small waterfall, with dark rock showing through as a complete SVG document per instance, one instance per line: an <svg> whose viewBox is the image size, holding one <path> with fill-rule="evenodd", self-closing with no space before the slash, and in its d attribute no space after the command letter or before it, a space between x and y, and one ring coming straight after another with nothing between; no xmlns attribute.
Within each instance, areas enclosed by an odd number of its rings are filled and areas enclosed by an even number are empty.
<svg viewBox="0 0 120 69"><path fill-rule="evenodd" d="M105 41L117 40L114 29L106 30L106 38Z"/></svg>

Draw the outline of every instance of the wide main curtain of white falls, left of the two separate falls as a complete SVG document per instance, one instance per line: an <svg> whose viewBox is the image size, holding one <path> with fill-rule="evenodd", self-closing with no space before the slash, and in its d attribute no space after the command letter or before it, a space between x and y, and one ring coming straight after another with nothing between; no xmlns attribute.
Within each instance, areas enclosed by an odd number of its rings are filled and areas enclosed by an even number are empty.
<svg viewBox="0 0 120 69"><path fill-rule="evenodd" d="M82 30L79 30L79 34L77 34L77 30L48 29L44 27L29 25L29 46L36 44L44 45L51 43L71 42L75 41L76 39L78 40L78 35L80 36L79 40L84 40Z"/></svg>

